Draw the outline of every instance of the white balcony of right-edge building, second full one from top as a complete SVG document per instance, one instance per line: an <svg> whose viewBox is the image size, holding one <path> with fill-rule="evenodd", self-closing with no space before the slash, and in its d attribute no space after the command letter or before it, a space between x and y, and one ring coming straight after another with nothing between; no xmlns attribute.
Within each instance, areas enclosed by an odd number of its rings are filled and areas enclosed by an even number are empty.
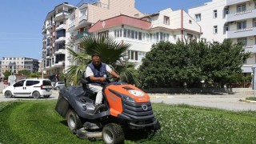
<svg viewBox="0 0 256 144"><path fill-rule="evenodd" d="M242 38L256 35L256 27L227 31L227 38Z"/></svg>

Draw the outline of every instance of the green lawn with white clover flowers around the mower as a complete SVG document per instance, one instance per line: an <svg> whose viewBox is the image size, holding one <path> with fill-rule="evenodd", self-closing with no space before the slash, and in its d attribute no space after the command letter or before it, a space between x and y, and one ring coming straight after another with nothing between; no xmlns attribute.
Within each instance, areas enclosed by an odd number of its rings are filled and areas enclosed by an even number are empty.
<svg viewBox="0 0 256 144"><path fill-rule="evenodd" d="M56 100L0 102L0 143L91 143L70 132L55 104ZM149 135L135 131L126 135L125 143L256 143L256 111L163 103L153 108L162 130Z"/></svg>

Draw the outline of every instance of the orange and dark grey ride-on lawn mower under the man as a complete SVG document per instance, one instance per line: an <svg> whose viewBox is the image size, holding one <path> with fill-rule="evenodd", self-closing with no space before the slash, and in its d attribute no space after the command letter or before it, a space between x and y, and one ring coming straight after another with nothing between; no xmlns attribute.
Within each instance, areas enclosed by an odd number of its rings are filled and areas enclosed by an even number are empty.
<svg viewBox="0 0 256 144"><path fill-rule="evenodd" d="M109 82L103 89L104 105L94 113L96 94L83 86L68 86L59 91L55 110L66 118L78 138L105 143L122 143L126 130L155 132L160 123L154 118L150 97L125 82Z"/></svg>

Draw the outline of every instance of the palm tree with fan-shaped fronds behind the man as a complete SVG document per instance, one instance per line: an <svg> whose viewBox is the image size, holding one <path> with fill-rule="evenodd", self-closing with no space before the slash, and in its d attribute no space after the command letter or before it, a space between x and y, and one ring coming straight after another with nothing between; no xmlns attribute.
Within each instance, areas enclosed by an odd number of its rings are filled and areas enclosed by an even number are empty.
<svg viewBox="0 0 256 144"><path fill-rule="evenodd" d="M70 48L70 54L74 61L78 61L78 65L72 65L68 68L66 78L69 82L77 85L86 65L90 62L91 54L100 54L102 62L110 65L113 70L120 74L123 82L138 83L137 70L134 70L134 65L125 61L126 50L130 44L115 42L110 36L87 36L82 38L80 42L80 52L75 52Z"/></svg>

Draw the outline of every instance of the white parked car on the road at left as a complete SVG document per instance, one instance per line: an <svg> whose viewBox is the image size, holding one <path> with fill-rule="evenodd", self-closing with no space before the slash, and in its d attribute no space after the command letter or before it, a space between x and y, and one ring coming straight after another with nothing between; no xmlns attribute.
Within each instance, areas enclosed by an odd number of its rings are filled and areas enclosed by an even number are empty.
<svg viewBox="0 0 256 144"><path fill-rule="evenodd" d="M49 98L52 94L51 82L48 79L22 79L2 90L6 98L14 96L32 96L33 98Z"/></svg>

